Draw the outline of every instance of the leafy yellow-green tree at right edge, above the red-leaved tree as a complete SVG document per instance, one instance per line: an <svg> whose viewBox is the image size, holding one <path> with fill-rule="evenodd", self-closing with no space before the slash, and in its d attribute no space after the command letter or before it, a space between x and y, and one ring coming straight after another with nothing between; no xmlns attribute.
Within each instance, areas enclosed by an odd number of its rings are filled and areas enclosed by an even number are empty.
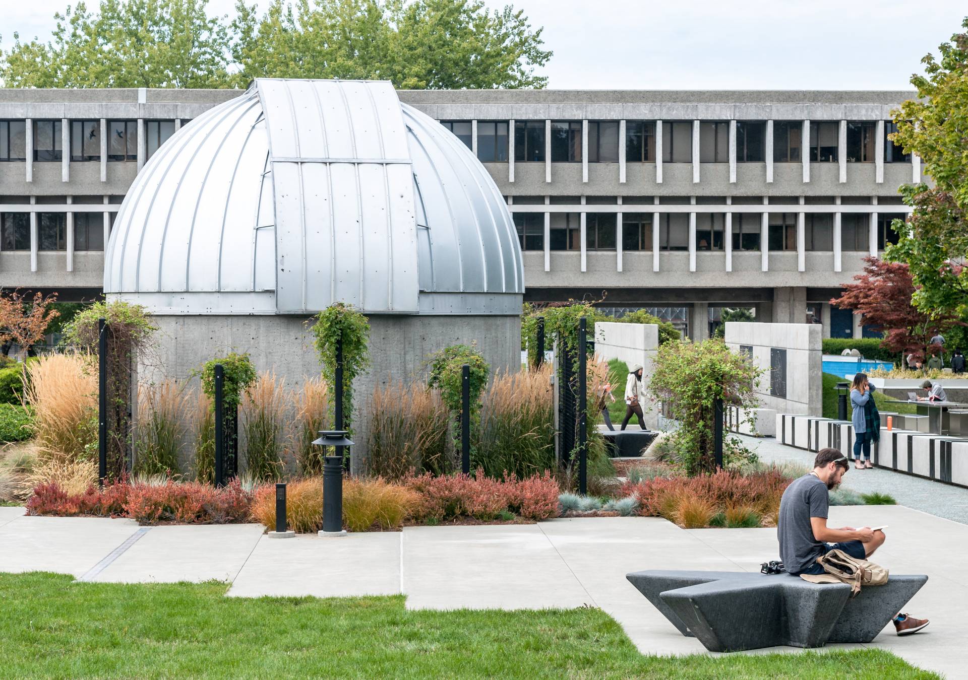
<svg viewBox="0 0 968 680"><path fill-rule="evenodd" d="M962 22L968 29L968 18ZM922 60L925 74L911 84L918 99L893 112L897 132L894 143L923 161L927 184L902 188L904 201L914 212L908 222L892 224L899 241L886 257L907 262L915 284L915 305L929 315L968 312L968 33L955 34L941 44L940 58Z"/></svg>

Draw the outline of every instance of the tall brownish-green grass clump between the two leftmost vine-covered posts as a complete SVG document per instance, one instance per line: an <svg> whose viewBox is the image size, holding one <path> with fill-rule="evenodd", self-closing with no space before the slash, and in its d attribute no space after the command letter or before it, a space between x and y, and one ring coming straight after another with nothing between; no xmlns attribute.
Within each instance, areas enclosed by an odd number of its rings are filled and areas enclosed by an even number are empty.
<svg viewBox="0 0 968 680"><path fill-rule="evenodd" d="M138 389L134 472L178 474L179 453L186 432L186 396L174 381Z"/></svg>

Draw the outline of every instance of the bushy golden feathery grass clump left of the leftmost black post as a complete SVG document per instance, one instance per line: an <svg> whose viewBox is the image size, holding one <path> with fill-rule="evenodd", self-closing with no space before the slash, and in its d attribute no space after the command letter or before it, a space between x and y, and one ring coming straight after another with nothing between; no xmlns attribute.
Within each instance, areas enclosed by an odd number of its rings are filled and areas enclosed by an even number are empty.
<svg viewBox="0 0 968 680"><path fill-rule="evenodd" d="M48 354L26 367L26 401L43 460L90 458L98 438L98 376L79 354Z"/></svg>

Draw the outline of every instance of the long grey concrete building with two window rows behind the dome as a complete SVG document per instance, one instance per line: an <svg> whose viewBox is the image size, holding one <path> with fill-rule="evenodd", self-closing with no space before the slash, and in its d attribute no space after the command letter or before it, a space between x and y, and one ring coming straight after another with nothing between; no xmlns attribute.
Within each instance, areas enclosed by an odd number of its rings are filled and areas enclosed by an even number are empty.
<svg viewBox="0 0 968 680"><path fill-rule="evenodd" d="M142 165L234 91L0 90L0 286L101 289ZM887 138L913 92L403 91L484 163L525 299L650 308L694 338L724 309L860 337L839 285L892 239L917 157Z"/></svg>

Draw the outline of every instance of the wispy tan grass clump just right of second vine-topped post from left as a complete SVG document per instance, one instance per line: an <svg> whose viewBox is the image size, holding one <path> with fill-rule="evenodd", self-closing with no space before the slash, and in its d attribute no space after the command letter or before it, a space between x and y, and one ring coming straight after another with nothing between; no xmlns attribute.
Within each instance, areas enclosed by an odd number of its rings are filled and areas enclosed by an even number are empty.
<svg viewBox="0 0 968 680"><path fill-rule="evenodd" d="M283 472L282 431L287 406L286 379L275 371L259 373L242 402L246 469L253 479L278 480Z"/></svg>

